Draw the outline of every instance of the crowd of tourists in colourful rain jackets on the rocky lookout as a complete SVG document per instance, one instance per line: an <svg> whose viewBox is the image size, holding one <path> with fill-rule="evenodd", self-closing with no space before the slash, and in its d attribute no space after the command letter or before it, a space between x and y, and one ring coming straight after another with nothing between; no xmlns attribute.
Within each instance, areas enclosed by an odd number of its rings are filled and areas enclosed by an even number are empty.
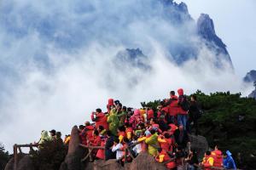
<svg viewBox="0 0 256 170"><path fill-rule="evenodd" d="M79 126L81 144L102 146L104 149L92 151L94 159L116 159L121 165L132 161L132 157L148 152L155 161L164 163L168 169L185 166L194 170L236 169L235 161L227 150L222 153L207 151L203 161L199 162L196 150L190 150L189 134L200 133L198 119L201 110L195 95L188 99L183 89L170 92L170 98L160 101L157 109L144 107L133 109L122 105L119 100L108 99L107 111L101 109L91 113L91 122ZM60 133L54 130L42 132L39 144L44 140L58 140ZM70 135L66 135L64 144L68 144ZM125 150L130 151L126 153Z"/></svg>

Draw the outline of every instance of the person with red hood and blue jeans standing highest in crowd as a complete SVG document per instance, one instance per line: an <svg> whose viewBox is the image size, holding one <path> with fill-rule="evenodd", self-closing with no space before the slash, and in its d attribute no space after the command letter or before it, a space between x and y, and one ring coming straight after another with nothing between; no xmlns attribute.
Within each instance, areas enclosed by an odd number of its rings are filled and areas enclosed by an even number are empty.
<svg viewBox="0 0 256 170"><path fill-rule="evenodd" d="M186 97L183 94L183 88L177 89L178 94L178 102L177 102L177 123L178 125L183 125L184 129L187 125L187 116L188 116L188 110L189 105Z"/></svg>

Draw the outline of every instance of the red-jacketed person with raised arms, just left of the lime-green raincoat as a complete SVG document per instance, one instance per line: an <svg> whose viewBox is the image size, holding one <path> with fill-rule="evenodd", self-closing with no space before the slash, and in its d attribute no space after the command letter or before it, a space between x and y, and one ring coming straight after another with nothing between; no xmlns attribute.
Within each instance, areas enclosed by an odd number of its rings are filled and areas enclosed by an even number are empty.
<svg viewBox="0 0 256 170"><path fill-rule="evenodd" d="M102 113L101 109L96 109L96 112L92 112L90 115L91 121L96 122L95 127L98 128L99 126L104 127L106 130L108 130L108 118L105 116L104 113Z"/></svg>

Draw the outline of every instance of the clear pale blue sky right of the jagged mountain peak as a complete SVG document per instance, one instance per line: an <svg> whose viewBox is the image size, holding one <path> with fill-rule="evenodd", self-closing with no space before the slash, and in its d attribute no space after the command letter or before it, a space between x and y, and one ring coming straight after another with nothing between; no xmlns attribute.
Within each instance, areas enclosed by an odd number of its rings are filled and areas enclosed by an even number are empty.
<svg viewBox="0 0 256 170"><path fill-rule="evenodd" d="M176 0L188 5L197 20L209 14L215 31L227 45L236 74L244 77L256 70L256 1L254 0Z"/></svg>

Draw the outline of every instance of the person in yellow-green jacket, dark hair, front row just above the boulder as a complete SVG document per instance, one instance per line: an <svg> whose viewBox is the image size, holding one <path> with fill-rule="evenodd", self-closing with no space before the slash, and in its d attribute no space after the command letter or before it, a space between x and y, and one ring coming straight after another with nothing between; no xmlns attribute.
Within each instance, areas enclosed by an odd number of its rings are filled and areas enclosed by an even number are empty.
<svg viewBox="0 0 256 170"><path fill-rule="evenodd" d="M145 140L145 143L148 144L148 154L152 156L157 156L157 150L159 148L158 144L158 134L154 129L150 130L151 136Z"/></svg>

